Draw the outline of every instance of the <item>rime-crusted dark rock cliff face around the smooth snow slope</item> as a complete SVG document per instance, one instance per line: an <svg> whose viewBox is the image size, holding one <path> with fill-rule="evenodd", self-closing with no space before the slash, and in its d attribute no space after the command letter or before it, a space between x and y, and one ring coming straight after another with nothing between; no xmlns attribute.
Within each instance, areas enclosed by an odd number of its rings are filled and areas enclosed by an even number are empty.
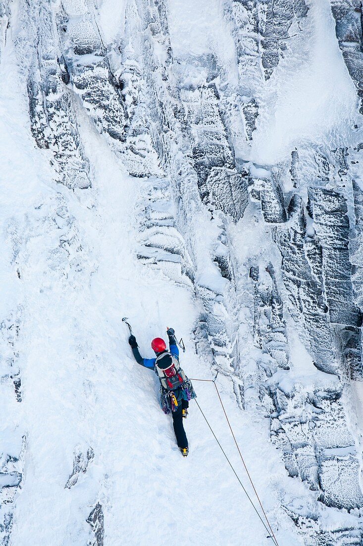
<svg viewBox="0 0 363 546"><path fill-rule="evenodd" d="M227 378L241 412L269 423L292 484L276 485L276 518L287 514L293 541L308 546L359 545L361 2L226 0L214 23L201 8L198 46L178 2L116 4L0 2L0 66L12 40L34 143L67 188L23 223L9 220L11 263L21 281L32 253L24 233L45 230L54 279L91 283L99 265L72 204L98 203L90 124L133 177L134 257L195 298L196 354ZM2 383L20 405L26 302L12 301L1 323ZM27 460L21 423L0 458L4 544ZM94 456L75 449L66 488ZM107 506L92 495L90 543L101 545Z"/></svg>

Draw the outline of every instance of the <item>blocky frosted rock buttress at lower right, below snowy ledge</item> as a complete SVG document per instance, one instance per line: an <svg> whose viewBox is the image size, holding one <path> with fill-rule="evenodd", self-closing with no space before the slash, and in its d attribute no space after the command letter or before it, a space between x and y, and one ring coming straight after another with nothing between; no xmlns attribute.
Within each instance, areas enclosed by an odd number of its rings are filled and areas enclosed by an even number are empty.
<svg viewBox="0 0 363 546"><path fill-rule="evenodd" d="M360 507L359 459L340 391L319 385L308 393L304 388L285 392L277 385L270 395L275 405L271 439L282 449L289 475L320 491L326 506Z"/></svg>

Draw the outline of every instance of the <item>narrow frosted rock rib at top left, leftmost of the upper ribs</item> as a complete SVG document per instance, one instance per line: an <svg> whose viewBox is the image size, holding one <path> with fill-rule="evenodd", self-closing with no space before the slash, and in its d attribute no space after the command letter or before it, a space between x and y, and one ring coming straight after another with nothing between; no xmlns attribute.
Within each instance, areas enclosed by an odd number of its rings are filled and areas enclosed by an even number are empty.
<svg viewBox="0 0 363 546"><path fill-rule="evenodd" d="M34 139L40 148L51 152L59 182L69 188L90 186L89 163L84 157L78 133L75 105L67 87L69 73L59 48L57 23L51 8L28 6L33 29L29 44L27 90L29 115ZM25 44L19 40L18 54Z"/></svg>

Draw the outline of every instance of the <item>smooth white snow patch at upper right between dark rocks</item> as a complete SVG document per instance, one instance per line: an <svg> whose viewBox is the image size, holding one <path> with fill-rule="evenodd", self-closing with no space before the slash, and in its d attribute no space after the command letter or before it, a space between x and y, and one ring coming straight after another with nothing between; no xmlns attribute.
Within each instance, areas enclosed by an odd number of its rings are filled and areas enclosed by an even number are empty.
<svg viewBox="0 0 363 546"><path fill-rule="evenodd" d="M289 40L268 84L253 135L251 160L283 161L305 141L342 145L354 124L357 96L336 37L329 0L310 0L304 32Z"/></svg>

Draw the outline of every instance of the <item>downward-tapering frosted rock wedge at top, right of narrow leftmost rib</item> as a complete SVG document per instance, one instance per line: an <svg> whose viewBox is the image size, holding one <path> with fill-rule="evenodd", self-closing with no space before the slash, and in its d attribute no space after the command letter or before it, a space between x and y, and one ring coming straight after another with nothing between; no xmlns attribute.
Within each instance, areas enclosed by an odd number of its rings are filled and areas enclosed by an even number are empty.
<svg viewBox="0 0 363 546"><path fill-rule="evenodd" d="M80 8L81 13L74 11L71 2L63 2L63 7L64 12L59 13L59 38L74 91L131 174L161 174L152 120L155 84L145 72L145 68L151 73L156 67L149 34L141 31L148 28L152 9L138 10L133 2L129 3L124 47L111 56L86 4ZM156 34L154 25L152 35ZM146 67L140 64L142 60Z"/></svg>

